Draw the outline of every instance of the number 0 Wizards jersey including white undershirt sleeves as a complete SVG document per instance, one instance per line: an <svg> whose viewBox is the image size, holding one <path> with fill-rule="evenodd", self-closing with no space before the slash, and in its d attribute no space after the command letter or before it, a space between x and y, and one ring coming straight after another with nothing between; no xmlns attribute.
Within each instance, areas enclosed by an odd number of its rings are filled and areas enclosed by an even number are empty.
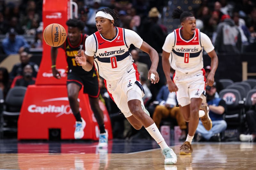
<svg viewBox="0 0 256 170"><path fill-rule="evenodd" d="M143 40L140 36L124 28L118 28L116 37L105 39L98 31L85 41L85 54L94 56L94 64L101 77L108 81L121 79L132 65L132 55L129 52L131 44L140 48Z"/></svg>

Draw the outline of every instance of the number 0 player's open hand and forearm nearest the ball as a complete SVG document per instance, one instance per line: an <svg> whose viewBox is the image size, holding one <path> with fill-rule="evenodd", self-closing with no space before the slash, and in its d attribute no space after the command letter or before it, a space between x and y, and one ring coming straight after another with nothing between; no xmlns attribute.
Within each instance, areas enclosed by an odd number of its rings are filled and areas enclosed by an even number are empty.
<svg viewBox="0 0 256 170"><path fill-rule="evenodd" d="M84 53L84 51L81 51L81 57L78 57L75 54L75 61L77 64L82 66L85 71L91 71L93 67L94 56L88 56Z"/></svg>

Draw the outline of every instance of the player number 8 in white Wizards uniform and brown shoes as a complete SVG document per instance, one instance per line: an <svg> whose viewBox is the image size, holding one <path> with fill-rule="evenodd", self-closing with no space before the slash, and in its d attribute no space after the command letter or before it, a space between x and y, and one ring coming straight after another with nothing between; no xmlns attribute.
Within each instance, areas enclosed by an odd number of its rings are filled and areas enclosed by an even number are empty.
<svg viewBox="0 0 256 170"><path fill-rule="evenodd" d="M176 92L180 112L188 123L188 136L180 147L180 154L191 154L199 117L206 130L212 128L209 108L205 99L205 86L212 86L218 66L218 57L210 38L196 29L196 18L190 12L176 8L172 18L180 19L181 28L170 33L164 42L162 64L170 92ZM211 57L212 70L205 82L203 48ZM171 55L171 56L170 56ZM175 70L170 77L170 63ZM204 104L201 104L201 103Z"/></svg>

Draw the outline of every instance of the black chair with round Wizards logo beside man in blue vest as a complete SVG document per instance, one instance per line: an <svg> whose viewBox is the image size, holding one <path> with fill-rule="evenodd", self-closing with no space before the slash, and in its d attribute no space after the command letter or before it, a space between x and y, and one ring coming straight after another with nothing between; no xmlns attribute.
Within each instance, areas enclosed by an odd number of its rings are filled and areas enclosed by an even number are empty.
<svg viewBox="0 0 256 170"><path fill-rule="evenodd" d="M243 121L243 104L240 92L236 89L223 89L220 91L220 98L225 100L227 111L224 116L228 125L241 126Z"/></svg>

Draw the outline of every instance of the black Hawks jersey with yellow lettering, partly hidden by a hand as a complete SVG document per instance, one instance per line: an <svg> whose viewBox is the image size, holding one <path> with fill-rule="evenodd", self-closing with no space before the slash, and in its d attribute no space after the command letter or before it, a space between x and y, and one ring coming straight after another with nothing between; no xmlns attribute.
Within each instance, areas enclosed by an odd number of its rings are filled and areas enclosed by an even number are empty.
<svg viewBox="0 0 256 170"><path fill-rule="evenodd" d="M66 51L66 58L68 63L68 73L76 73L76 74L89 74L93 72L94 68L92 68L91 71L87 72L85 71L81 66L79 66L75 61L75 54L77 54L77 51L80 49L83 49L85 51L85 42L86 34L81 34L80 42L77 46L72 46L69 38L67 37L65 42L65 51Z"/></svg>

